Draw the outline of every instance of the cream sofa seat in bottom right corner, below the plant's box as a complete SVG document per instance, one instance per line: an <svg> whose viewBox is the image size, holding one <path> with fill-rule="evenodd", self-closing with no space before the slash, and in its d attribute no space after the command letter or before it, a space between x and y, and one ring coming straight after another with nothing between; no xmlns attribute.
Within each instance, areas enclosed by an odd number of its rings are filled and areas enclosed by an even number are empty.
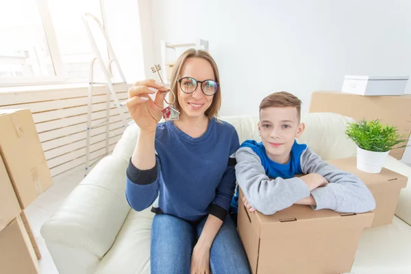
<svg viewBox="0 0 411 274"><path fill-rule="evenodd" d="M394 216L393 223L364 229L352 273L411 273L411 227Z"/></svg>

